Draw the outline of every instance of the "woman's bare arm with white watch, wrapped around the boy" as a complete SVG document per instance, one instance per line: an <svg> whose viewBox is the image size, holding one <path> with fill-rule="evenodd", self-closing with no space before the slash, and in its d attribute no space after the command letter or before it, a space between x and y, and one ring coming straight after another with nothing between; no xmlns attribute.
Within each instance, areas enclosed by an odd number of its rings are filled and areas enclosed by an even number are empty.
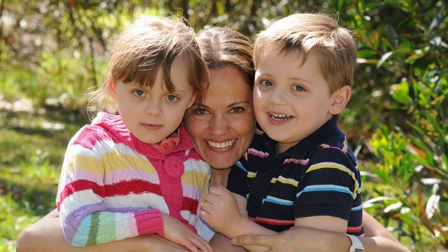
<svg viewBox="0 0 448 252"><path fill-rule="evenodd" d="M365 251L409 251L369 213L363 212L365 237L358 237ZM369 236L369 237L367 237ZM319 242L316 242L318 237ZM343 233L321 231L307 227L292 227L277 235L242 235L232 239L240 246L261 246L266 251L349 251L352 241Z"/></svg>

